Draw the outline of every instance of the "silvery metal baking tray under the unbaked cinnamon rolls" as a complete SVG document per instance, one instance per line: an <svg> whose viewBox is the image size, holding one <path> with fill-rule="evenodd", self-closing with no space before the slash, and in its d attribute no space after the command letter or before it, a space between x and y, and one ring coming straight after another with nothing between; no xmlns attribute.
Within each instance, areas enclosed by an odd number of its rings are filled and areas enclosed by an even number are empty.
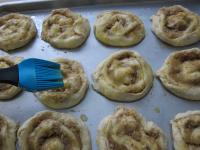
<svg viewBox="0 0 200 150"><path fill-rule="evenodd" d="M88 76L90 87L83 101L70 109L56 110L67 112L76 117L86 115L87 126L91 132L93 150L96 146L96 129L99 122L107 115L111 114L116 106L127 105L136 108L147 120L157 123L165 132L168 140L168 149L173 149L171 137L170 120L179 112L200 109L200 102L192 102L178 98L168 92L155 78L153 88L141 100L131 103L118 103L109 101L92 89L91 74L97 64L110 54L119 49L130 49L139 52L151 64L156 72L163 64L165 58L171 53L182 49L200 47L200 42L186 47L172 47L156 38L151 32L150 17L163 6L181 4L192 11L200 14L199 0L63 0L63 1L18 1L0 4L0 15L17 11L30 15L34 20L38 34L35 40L29 45L10 54L22 57L37 57L52 59L65 57L77 60L82 63ZM91 32L88 40L75 50L59 50L51 47L48 43L41 40L42 22L50 13L51 9L69 7L73 11L82 14L89 19ZM105 10L126 10L138 15L144 22L146 37L136 46L127 48L109 47L99 43L93 33L93 25L96 16ZM4 52L0 52L4 53ZM49 109L42 105L37 98L29 92L22 92L15 99L0 102L0 112L13 118L20 123L33 116L36 112Z"/></svg>

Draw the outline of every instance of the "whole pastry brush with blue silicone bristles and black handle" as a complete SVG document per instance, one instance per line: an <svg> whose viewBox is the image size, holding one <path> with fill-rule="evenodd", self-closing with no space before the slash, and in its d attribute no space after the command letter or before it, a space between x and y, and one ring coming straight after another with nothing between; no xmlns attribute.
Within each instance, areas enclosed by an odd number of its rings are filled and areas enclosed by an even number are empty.
<svg viewBox="0 0 200 150"><path fill-rule="evenodd" d="M36 58L0 69L0 83L9 83L32 92L64 86L60 64Z"/></svg>

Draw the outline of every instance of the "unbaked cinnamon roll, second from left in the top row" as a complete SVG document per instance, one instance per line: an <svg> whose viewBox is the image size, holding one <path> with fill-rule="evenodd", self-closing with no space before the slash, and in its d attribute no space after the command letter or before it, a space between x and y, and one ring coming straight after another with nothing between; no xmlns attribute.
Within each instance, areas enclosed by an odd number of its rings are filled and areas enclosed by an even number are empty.
<svg viewBox="0 0 200 150"><path fill-rule="evenodd" d="M56 48L76 48L89 33L88 20L67 8L53 10L42 26L42 39Z"/></svg>

